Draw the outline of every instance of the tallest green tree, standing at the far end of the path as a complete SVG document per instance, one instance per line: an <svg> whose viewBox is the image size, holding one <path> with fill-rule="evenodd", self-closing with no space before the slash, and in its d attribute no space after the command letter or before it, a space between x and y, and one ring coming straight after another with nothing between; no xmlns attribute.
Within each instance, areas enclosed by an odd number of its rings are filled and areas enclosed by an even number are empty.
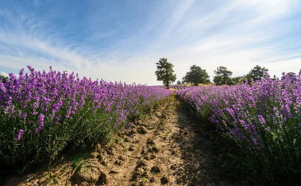
<svg viewBox="0 0 301 186"><path fill-rule="evenodd" d="M157 75L157 80L163 81L163 84L169 89L169 85L176 81L177 75L174 74L174 65L167 61L167 58L160 58L157 64L157 70L155 74Z"/></svg>

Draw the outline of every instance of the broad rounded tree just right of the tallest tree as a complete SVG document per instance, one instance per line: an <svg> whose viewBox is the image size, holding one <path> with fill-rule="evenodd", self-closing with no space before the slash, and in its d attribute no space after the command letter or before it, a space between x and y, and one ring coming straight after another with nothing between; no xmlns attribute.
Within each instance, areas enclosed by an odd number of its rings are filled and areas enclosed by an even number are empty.
<svg viewBox="0 0 301 186"><path fill-rule="evenodd" d="M186 75L183 76L182 81L198 85L199 83L205 84L210 82L209 78L210 76L205 69L202 69L201 66L194 64L190 66L190 71L186 72Z"/></svg>

